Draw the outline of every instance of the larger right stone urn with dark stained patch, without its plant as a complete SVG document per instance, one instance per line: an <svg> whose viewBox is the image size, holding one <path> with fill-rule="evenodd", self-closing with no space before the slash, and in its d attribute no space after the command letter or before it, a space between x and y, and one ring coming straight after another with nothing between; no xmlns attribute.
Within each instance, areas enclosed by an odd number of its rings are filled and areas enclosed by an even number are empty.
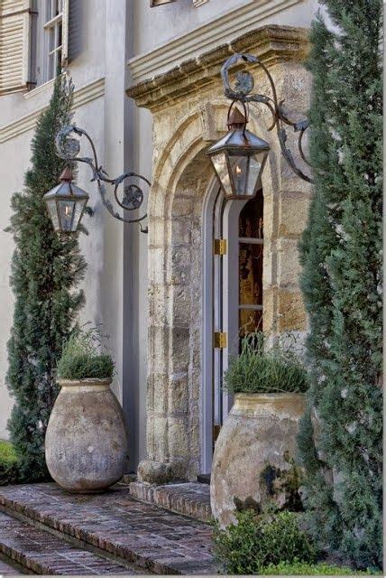
<svg viewBox="0 0 386 578"><path fill-rule="evenodd" d="M236 394L216 441L210 480L212 513L222 527L237 509L260 511L268 500L280 507L297 500L293 464L301 394Z"/></svg>

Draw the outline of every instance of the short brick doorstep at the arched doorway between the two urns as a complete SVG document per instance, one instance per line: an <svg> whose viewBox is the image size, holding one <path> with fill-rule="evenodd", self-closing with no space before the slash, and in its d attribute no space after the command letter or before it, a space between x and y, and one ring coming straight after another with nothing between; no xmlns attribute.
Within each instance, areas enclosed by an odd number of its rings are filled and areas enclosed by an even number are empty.
<svg viewBox="0 0 386 578"><path fill-rule="evenodd" d="M212 519L210 488L207 484L181 482L154 486L141 481L131 481L128 486L133 498L202 522L210 522Z"/></svg>

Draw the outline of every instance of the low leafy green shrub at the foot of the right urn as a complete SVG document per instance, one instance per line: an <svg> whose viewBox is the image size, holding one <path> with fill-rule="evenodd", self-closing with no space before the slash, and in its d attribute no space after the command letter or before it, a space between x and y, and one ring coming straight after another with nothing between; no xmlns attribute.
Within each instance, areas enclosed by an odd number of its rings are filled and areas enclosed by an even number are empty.
<svg viewBox="0 0 386 578"><path fill-rule="evenodd" d="M222 530L215 524L213 539L217 560L230 574L259 574L269 564L315 562L317 552L299 529L292 512L256 516L253 510L236 514L237 524Z"/></svg>

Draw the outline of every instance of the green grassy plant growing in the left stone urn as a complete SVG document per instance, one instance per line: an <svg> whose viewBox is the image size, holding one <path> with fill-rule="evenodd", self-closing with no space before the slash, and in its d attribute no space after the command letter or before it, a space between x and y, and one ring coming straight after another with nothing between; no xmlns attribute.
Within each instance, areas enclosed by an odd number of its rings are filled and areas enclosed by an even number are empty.
<svg viewBox="0 0 386 578"><path fill-rule="evenodd" d="M101 353L101 333L97 328L77 329L66 342L58 363L62 379L111 378L114 361L108 353Z"/></svg>

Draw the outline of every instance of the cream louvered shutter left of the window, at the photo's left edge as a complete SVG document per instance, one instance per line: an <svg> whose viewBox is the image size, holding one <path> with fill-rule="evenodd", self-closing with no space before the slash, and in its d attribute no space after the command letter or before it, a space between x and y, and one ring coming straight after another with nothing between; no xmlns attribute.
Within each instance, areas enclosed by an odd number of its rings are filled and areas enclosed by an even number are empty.
<svg viewBox="0 0 386 578"><path fill-rule="evenodd" d="M0 95L28 88L31 0L0 0Z"/></svg>

